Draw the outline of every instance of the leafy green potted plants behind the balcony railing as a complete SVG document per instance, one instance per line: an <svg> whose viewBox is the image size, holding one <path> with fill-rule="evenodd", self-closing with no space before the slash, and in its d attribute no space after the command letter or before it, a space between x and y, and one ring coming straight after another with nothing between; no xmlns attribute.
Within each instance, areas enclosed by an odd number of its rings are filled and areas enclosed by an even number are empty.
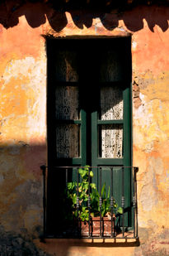
<svg viewBox="0 0 169 256"><path fill-rule="evenodd" d="M68 200L71 202L72 214L74 217L78 217L82 221L89 220L89 210L90 217L96 217L101 214L101 217L110 216L110 186L108 192L106 193L106 183L101 188L101 195L97 191L96 184L92 183L93 172L90 170L89 166L84 168L79 168L80 181L78 182L68 182L67 184L67 196ZM77 202L78 196L78 202ZM88 206L89 196L90 208ZM101 209L99 205L99 200L102 200ZM77 212L77 203L79 204ZM114 214L122 214L123 210L119 207L113 198L113 212Z"/></svg>

